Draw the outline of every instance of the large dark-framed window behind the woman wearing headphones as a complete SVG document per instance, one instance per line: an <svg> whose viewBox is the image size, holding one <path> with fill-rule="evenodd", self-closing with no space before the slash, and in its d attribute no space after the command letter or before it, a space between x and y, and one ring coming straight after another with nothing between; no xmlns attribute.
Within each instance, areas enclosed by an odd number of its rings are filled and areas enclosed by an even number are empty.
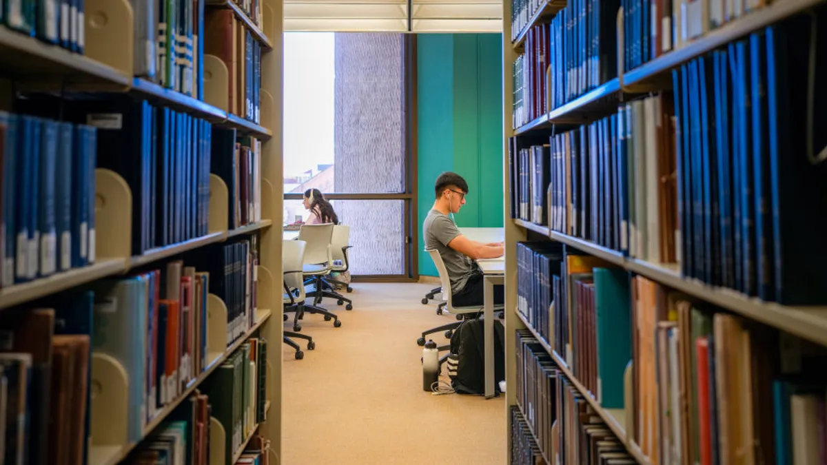
<svg viewBox="0 0 827 465"><path fill-rule="evenodd" d="M307 218L319 189L351 226L353 275L410 274L407 41L284 34L284 221Z"/></svg>

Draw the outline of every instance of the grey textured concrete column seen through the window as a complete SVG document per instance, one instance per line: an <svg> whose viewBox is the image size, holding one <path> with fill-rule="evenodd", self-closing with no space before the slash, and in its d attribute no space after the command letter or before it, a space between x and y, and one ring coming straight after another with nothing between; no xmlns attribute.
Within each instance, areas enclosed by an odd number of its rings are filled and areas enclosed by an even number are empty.
<svg viewBox="0 0 827 465"><path fill-rule="evenodd" d="M336 34L336 170L333 192L403 191L403 37ZM341 200L334 204L351 227L351 273L404 273L403 202Z"/></svg>

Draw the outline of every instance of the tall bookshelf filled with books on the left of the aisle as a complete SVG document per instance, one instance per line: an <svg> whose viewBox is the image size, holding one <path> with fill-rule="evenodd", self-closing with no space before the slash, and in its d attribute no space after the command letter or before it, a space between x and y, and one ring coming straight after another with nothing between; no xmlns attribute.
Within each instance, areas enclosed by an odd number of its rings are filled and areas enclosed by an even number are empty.
<svg viewBox="0 0 827 465"><path fill-rule="evenodd" d="M29 387L0 395L27 419L0 453L280 463L282 2L162 0L170 49L141 29L157 2L65 25L23 3L0 21L0 377Z"/></svg>

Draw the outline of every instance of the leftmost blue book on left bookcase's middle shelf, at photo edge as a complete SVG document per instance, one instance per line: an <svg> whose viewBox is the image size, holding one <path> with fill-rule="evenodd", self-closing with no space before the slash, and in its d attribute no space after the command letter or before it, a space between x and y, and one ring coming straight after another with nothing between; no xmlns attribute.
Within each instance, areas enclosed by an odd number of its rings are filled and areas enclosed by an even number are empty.
<svg viewBox="0 0 827 465"><path fill-rule="evenodd" d="M2 129L2 270L0 286L14 284L15 249L17 242L17 115L0 111L0 129Z"/></svg>

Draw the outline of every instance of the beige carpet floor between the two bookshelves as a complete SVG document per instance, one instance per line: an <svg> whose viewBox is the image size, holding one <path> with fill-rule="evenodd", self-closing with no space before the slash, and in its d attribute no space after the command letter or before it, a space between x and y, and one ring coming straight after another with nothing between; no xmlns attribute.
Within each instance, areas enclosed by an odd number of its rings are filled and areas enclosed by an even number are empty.
<svg viewBox="0 0 827 465"><path fill-rule="evenodd" d="M424 328L456 321L420 300L433 285L356 283L354 309L323 306L342 320L333 328L306 314L304 360L284 348L284 465L505 463L502 396L430 395L422 390ZM292 317L292 314L290 315ZM284 324L292 328L292 318ZM437 344L447 344L442 333ZM447 379L444 378L444 379Z"/></svg>

